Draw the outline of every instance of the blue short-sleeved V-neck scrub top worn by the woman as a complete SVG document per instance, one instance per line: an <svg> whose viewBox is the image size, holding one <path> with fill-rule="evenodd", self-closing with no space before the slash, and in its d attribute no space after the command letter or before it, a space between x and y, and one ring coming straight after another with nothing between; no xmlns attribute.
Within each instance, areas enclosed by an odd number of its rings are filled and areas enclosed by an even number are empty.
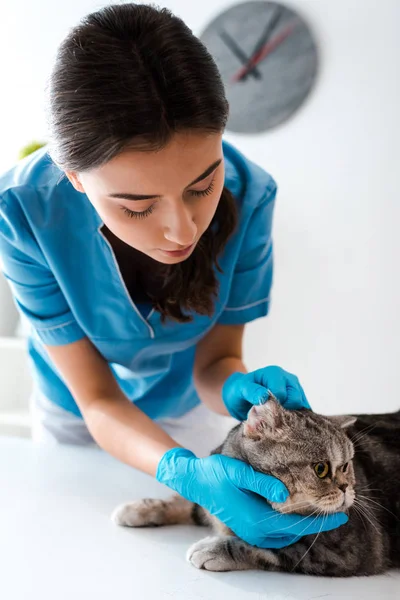
<svg viewBox="0 0 400 600"><path fill-rule="evenodd" d="M35 382L52 402L82 416L45 344L85 336L109 363L126 396L151 418L179 417L200 399L193 384L196 345L216 323L243 324L267 314L273 273L276 183L223 140L225 186L239 224L215 269L212 317L161 323L131 300L103 222L44 146L0 176L1 269L30 324Z"/></svg>

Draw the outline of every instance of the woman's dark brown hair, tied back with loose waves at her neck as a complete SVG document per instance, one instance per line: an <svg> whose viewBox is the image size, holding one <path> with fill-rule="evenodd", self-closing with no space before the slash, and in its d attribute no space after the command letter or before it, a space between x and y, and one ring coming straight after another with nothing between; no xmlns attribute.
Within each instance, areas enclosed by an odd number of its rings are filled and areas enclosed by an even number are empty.
<svg viewBox="0 0 400 600"><path fill-rule="evenodd" d="M159 150L178 132L223 132L228 110L212 56L180 18L151 5L106 6L85 16L57 50L46 84L48 152L63 171L82 173L124 150ZM163 285L148 294L163 320L213 313L214 266L221 271L218 256L236 222L235 199L224 187L192 255L157 267Z"/></svg>

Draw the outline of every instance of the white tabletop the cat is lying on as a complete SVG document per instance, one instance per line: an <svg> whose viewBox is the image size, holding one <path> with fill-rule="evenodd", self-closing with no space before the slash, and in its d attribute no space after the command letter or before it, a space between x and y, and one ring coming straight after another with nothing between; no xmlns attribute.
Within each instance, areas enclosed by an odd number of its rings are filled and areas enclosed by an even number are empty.
<svg viewBox="0 0 400 600"><path fill-rule="evenodd" d="M170 491L96 448L0 437L0 597L5 600L383 600L400 572L328 579L210 573L186 562L205 529L117 527L121 502Z"/></svg>

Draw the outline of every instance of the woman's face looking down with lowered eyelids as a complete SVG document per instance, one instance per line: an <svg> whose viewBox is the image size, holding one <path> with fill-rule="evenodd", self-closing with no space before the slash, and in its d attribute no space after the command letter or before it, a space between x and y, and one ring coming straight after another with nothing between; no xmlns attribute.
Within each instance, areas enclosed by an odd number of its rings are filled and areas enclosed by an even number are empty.
<svg viewBox="0 0 400 600"><path fill-rule="evenodd" d="M224 187L223 160L222 134L185 132L162 150L127 150L90 172L66 175L114 235L174 264L190 256L211 223Z"/></svg>

